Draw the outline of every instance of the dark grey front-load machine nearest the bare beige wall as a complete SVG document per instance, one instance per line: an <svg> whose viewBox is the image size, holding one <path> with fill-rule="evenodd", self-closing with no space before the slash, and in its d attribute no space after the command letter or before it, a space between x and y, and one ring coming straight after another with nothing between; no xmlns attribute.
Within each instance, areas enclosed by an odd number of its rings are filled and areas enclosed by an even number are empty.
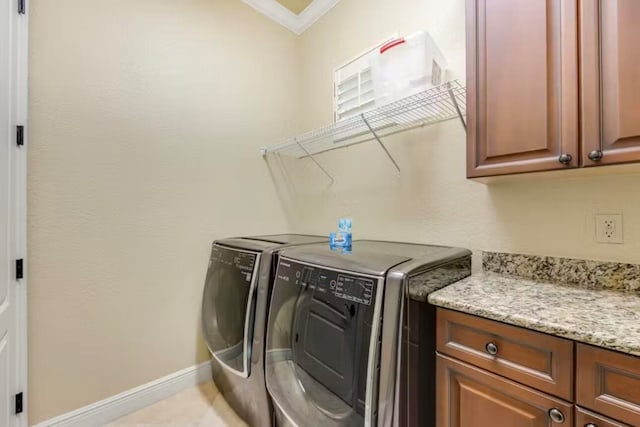
<svg viewBox="0 0 640 427"><path fill-rule="evenodd" d="M264 334L277 253L287 246L327 240L284 234L213 242L202 298L202 330L218 389L251 426L272 425L264 380Z"/></svg>

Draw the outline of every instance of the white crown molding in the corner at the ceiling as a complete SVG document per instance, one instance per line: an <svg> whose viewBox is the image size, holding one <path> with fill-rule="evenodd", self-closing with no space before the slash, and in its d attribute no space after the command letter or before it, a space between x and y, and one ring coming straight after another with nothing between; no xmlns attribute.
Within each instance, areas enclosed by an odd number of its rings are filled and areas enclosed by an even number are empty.
<svg viewBox="0 0 640 427"><path fill-rule="evenodd" d="M340 0L314 0L300 15L296 15L276 0L242 0L258 12L300 35L311 27Z"/></svg>

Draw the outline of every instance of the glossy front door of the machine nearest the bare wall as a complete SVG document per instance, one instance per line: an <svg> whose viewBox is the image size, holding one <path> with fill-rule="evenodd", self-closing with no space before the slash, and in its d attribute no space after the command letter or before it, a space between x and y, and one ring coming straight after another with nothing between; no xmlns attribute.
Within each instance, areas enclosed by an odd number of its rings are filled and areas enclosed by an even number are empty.
<svg viewBox="0 0 640 427"><path fill-rule="evenodd" d="M250 374L255 291L260 254L213 245L202 297L202 330L209 351L241 377Z"/></svg>

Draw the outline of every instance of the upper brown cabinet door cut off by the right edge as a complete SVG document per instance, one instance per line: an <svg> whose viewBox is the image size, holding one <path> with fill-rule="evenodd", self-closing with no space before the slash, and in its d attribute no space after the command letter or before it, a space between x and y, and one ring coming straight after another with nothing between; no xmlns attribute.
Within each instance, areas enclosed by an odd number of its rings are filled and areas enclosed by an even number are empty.
<svg viewBox="0 0 640 427"><path fill-rule="evenodd" d="M582 0L580 19L582 162L639 161L640 1Z"/></svg>

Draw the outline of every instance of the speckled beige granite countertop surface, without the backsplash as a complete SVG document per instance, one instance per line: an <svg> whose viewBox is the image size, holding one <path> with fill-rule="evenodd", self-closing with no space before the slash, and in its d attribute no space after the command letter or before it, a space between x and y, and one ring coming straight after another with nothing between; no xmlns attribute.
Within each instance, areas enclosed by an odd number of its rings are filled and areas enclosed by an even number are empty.
<svg viewBox="0 0 640 427"><path fill-rule="evenodd" d="M497 273L431 293L431 304L640 356L640 293L584 289Z"/></svg>

